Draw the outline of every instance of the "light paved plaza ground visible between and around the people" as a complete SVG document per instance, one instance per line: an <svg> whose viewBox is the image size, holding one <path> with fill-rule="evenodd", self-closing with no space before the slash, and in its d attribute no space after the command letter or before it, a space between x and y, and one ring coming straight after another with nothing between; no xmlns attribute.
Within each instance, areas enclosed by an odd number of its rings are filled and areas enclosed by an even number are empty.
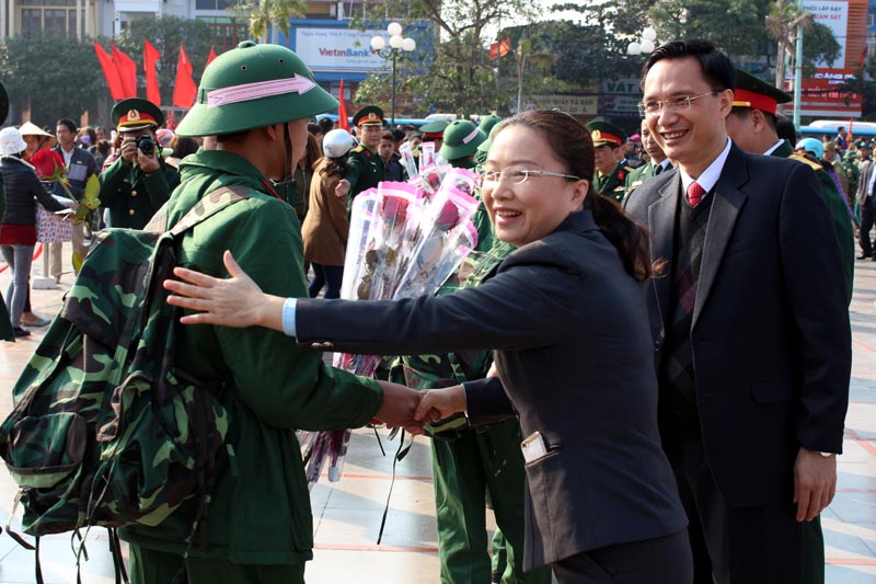
<svg viewBox="0 0 876 584"><path fill-rule="evenodd" d="M65 250L69 257L69 249ZM39 273L37 262L34 274ZM839 458L839 489L822 516L827 541L828 584L876 581L876 263L858 262L852 302L854 362L844 454ZM818 277L814 275L814 277ZM0 274L5 290L9 274ZM58 290L34 290L34 309L53 314L72 283L66 275ZM11 409L9 388L28 359L39 334L0 345L0 415ZM397 443L387 444L394 450ZM383 541L376 543L390 489L392 459L382 457L373 433L357 431L339 483L314 488L315 559L309 584L337 582L431 584L438 582L435 511L428 445L418 438L397 465ZM0 520L12 509L15 485L0 471ZM18 520L12 519L13 528ZM106 538L94 529L88 538L91 560L83 562L83 582L110 583L112 562ZM46 538L42 551L47 583L76 582L76 561L66 536ZM33 552L0 535L0 584L34 582ZM473 583L477 584L477 583Z"/></svg>

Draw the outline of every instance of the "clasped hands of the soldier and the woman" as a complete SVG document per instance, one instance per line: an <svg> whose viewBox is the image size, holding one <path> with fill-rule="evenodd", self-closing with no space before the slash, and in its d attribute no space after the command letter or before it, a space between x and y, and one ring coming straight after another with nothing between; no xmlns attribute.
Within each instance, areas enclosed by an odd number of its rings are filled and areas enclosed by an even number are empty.
<svg viewBox="0 0 876 584"><path fill-rule="evenodd" d="M466 409L462 386L417 391L390 381L378 381L383 388L383 403L373 423L401 426L414 435L425 434L424 424L431 424Z"/></svg>

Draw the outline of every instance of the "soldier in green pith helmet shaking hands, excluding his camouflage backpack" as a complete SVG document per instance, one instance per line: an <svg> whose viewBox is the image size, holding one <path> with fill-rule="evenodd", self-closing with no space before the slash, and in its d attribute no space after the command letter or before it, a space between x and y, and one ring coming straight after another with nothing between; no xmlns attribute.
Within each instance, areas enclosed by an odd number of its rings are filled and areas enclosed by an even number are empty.
<svg viewBox="0 0 876 584"><path fill-rule="evenodd" d="M177 239L180 265L224 274L230 250L263 288L308 296L300 227L274 185L304 156L308 118L336 107L286 47L245 42L210 64L177 134L215 136L216 147L180 164L169 227L219 187L245 190L249 198ZM203 537L186 541L194 503L154 527L119 530L130 543L131 582L183 575L188 584L302 584L313 525L296 428L399 424L417 393L330 370L320 353L267 329L186 327L176 341L177 363L215 388L229 412L228 448L217 460Z"/></svg>

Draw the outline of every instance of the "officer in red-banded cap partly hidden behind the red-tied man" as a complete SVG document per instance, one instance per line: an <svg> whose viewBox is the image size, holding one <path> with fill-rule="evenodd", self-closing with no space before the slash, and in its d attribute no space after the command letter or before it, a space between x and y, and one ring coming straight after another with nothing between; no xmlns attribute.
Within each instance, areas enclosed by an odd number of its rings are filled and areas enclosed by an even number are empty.
<svg viewBox="0 0 876 584"><path fill-rule="evenodd" d="M833 178L828 174L821 162L804 152L794 152L791 144L780 139L775 130L776 107L780 103L789 102L791 95L747 71L737 69L733 99L733 110L727 116L727 135L739 148L757 154L793 158L815 171L842 251L843 273L851 301L855 244L849 207L843 202L843 195L837 190ZM823 554L823 550L821 553Z"/></svg>

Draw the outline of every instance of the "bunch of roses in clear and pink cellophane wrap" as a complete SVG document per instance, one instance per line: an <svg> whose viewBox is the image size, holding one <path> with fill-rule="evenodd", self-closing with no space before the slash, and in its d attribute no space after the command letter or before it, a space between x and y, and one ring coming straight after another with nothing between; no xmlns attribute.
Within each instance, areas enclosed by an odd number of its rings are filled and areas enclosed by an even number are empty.
<svg viewBox="0 0 876 584"><path fill-rule="evenodd" d="M439 161L441 162L441 161ZM382 182L360 193L350 210L341 298L381 300L434 294L477 244L472 216L477 175L446 164L429 165L407 183ZM438 181L435 182L435 176ZM337 353L334 366L370 377L381 357ZM341 479L350 431L298 432L308 484L327 462L328 480Z"/></svg>

